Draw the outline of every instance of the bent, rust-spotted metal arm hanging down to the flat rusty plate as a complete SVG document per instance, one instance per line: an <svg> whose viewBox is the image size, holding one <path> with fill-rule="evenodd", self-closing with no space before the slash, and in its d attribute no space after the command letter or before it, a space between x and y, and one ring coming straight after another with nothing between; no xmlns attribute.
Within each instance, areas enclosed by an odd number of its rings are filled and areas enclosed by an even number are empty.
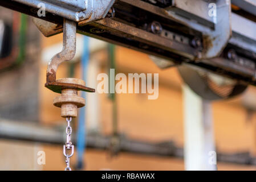
<svg viewBox="0 0 256 182"><path fill-rule="evenodd" d="M63 49L52 57L48 64L46 83L56 81L56 71L63 61L73 59L76 53L76 22L63 20Z"/></svg>

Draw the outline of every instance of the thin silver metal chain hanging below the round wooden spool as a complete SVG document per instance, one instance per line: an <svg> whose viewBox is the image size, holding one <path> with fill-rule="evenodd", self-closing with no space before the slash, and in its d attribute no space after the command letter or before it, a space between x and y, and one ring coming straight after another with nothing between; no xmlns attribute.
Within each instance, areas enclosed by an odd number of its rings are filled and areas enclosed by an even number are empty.
<svg viewBox="0 0 256 182"><path fill-rule="evenodd" d="M66 121L67 121L67 127L66 127L67 141L63 145L63 154L66 157L65 162L66 162L66 165L67 165L67 167L65 168L65 171L71 171L70 158L74 154L74 145L71 142L72 128L70 126L70 122L72 121L72 117L67 117ZM67 153L67 151L70 151L70 150L71 150L71 152Z"/></svg>

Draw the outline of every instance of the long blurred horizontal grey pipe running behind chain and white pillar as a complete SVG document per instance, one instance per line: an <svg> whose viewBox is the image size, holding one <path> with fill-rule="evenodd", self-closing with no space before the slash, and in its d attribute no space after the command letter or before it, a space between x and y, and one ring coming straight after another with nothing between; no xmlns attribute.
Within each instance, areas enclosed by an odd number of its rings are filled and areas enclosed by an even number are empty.
<svg viewBox="0 0 256 182"><path fill-rule="evenodd" d="M31 122L25 123L0 119L1 139L63 145L64 140L66 139L63 131L64 127L60 130L60 128L45 127ZM76 144L76 134L73 136L74 144ZM123 135L120 135L119 138L120 143L119 146L117 146L119 152L183 158L183 148L176 146L171 140L154 143L128 139ZM100 134L87 135L87 148L108 150L110 142L111 136L103 136ZM250 164L256 166L256 158L252 157L249 152L235 154L223 154L217 152L217 160L220 162Z"/></svg>

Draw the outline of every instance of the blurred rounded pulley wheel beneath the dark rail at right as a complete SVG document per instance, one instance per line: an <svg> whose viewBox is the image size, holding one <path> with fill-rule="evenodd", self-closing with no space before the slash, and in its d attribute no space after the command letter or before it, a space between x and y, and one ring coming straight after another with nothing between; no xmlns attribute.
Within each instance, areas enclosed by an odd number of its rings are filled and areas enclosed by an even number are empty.
<svg viewBox="0 0 256 182"><path fill-rule="evenodd" d="M178 67L178 71L190 89L205 100L231 98L243 93L247 88L247 85L240 84L230 78L185 65Z"/></svg>

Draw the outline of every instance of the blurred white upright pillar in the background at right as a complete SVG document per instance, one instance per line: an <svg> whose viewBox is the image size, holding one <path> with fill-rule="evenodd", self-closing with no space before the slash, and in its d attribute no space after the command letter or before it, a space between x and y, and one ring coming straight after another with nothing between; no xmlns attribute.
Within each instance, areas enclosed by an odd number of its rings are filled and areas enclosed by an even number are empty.
<svg viewBox="0 0 256 182"><path fill-rule="evenodd" d="M212 105L183 86L186 170L217 170Z"/></svg>

